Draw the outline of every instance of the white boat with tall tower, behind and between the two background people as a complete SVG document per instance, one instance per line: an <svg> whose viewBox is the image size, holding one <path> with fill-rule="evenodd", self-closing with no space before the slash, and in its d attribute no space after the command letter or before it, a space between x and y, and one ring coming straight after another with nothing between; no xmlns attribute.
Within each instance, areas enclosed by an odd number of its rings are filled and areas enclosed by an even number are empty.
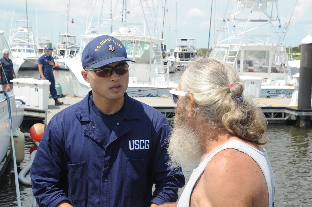
<svg viewBox="0 0 312 207"><path fill-rule="evenodd" d="M39 54L34 41L32 24L27 20L16 20L14 29L10 31L9 46L13 56L23 58L22 68L38 68Z"/></svg>

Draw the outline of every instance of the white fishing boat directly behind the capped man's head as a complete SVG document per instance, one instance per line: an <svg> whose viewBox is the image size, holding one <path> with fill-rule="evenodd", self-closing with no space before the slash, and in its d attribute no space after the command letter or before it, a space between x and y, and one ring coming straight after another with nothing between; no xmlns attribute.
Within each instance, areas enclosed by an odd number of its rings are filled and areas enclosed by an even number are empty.
<svg viewBox="0 0 312 207"><path fill-rule="evenodd" d="M111 2L111 1L110 1ZM67 59L66 65L74 79L74 93L76 96L85 96L90 91L88 84L81 75L81 54L85 45L100 35L111 35L118 38L127 50L127 57L136 63L129 62L129 86L127 93L130 96L170 96L169 90L177 88L177 84L169 80L169 70L163 63L161 40L156 22L156 12L153 0L140 0L131 10L142 12L144 19L141 23L129 23L126 15L129 10L119 10L118 0L110 4L108 1L96 1L95 8L103 8L100 12L101 21L92 26L95 14L89 15L85 35L81 36L81 44L74 58ZM116 9L118 8L118 9ZM93 11L91 9L91 11ZM120 22L119 22L120 20ZM115 32L112 28L116 27ZM123 25L120 27L120 25ZM124 27L127 25L127 27ZM131 26L130 26L131 25ZM144 25L142 31L138 25ZM115 28L115 27L114 27ZM165 72L167 71L167 72Z"/></svg>

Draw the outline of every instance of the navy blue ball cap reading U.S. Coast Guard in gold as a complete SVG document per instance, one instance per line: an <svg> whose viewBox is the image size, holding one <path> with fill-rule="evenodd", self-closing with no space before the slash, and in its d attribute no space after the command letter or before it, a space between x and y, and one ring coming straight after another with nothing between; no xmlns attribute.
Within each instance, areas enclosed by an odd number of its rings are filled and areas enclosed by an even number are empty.
<svg viewBox="0 0 312 207"><path fill-rule="evenodd" d="M115 37L102 35L91 40L83 49L81 63L83 69L88 66L100 68L119 61L131 61L127 58L124 45Z"/></svg>

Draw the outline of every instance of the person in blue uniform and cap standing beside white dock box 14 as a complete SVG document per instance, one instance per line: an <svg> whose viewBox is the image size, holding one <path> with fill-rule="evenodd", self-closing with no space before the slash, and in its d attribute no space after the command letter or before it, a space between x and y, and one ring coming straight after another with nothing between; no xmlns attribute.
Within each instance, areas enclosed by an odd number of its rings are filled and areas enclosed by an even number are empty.
<svg viewBox="0 0 312 207"><path fill-rule="evenodd" d="M52 55L50 55L51 48L46 46L44 48L44 53L45 54L39 57L38 59L38 70L40 73L40 78L47 79L51 82L50 93L51 93L52 98L55 101L55 105L59 106L59 105L62 105L63 102L57 99L58 95L57 95L56 88L55 88L55 79L54 79L53 69L52 69L52 68L55 68L55 62L54 62Z"/></svg>

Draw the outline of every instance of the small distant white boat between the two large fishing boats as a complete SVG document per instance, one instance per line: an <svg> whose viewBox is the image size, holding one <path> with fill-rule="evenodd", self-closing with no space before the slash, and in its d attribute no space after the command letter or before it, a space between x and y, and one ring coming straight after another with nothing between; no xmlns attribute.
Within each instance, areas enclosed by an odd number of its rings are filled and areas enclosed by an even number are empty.
<svg viewBox="0 0 312 207"><path fill-rule="evenodd" d="M174 72L175 70L173 69L185 67L196 54L195 38L176 39L176 46L173 50L173 54L168 57L167 64L170 64L170 72Z"/></svg>

